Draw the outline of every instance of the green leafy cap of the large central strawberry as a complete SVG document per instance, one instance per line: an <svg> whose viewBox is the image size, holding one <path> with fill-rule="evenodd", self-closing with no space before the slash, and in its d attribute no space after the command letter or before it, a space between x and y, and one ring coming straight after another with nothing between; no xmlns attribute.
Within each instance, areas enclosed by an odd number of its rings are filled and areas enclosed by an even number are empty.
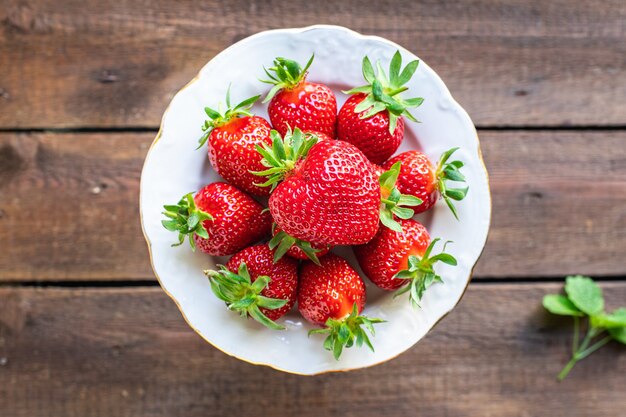
<svg viewBox="0 0 626 417"><path fill-rule="evenodd" d="M259 187L272 187L272 191L280 181L294 170L296 164L304 159L309 150L317 143L319 138L314 133L303 133L300 129L289 129L284 137L276 130L270 132L272 146L264 143L256 145L256 150L261 154L261 164L267 167L263 171L250 171L254 175L267 177L267 181L256 184Z"/></svg>

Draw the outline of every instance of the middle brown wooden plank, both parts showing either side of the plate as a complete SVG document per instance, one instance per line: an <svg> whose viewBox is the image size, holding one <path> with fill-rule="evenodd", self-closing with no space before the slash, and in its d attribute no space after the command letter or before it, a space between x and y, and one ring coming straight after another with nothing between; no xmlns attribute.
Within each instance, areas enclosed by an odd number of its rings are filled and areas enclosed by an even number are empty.
<svg viewBox="0 0 626 417"><path fill-rule="evenodd" d="M626 131L480 134L493 218L477 277L626 274ZM153 279L137 218L151 141L0 134L0 281Z"/></svg>

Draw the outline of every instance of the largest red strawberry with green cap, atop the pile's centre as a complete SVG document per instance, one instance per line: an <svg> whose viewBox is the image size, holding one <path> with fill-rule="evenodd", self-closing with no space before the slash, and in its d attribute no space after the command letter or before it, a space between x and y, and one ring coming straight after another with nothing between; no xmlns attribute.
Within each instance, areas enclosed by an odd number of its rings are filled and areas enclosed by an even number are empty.
<svg viewBox="0 0 626 417"><path fill-rule="evenodd" d="M378 230L380 185L372 164L348 142L305 138L299 129L259 146L257 172L274 188L269 208L289 236L313 245L361 244ZM280 182L282 180L282 182ZM278 184L280 182L280 184ZM278 185L277 185L278 184Z"/></svg>

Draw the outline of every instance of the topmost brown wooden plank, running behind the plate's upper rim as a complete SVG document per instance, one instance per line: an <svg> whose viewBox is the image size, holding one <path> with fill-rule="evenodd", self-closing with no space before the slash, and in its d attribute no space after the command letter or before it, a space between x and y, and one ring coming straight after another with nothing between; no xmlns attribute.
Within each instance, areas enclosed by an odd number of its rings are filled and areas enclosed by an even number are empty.
<svg viewBox="0 0 626 417"><path fill-rule="evenodd" d="M413 50L482 126L624 125L625 20L621 0L4 0L0 127L154 127L225 47L316 23Z"/></svg>

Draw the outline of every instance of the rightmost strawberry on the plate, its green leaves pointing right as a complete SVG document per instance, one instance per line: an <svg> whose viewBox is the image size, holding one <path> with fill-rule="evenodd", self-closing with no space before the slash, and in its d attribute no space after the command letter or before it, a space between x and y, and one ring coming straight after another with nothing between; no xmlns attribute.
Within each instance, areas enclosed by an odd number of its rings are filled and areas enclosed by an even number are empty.
<svg viewBox="0 0 626 417"><path fill-rule="evenodd" d="M459 218L453 200L465 198L469 187L450 188L448 181L464 182L465 176L459 171L463 167L461 161L448 162L450 156L459 148L452 148L441 155L437 168L428 157L419 151L403 152L394 156L383 167L389 169L394 164L401 163L400 174L396 187L401 193L415 196L423 201L415 211L424 212L435 205L439 196L454 214Z"/></svg>

